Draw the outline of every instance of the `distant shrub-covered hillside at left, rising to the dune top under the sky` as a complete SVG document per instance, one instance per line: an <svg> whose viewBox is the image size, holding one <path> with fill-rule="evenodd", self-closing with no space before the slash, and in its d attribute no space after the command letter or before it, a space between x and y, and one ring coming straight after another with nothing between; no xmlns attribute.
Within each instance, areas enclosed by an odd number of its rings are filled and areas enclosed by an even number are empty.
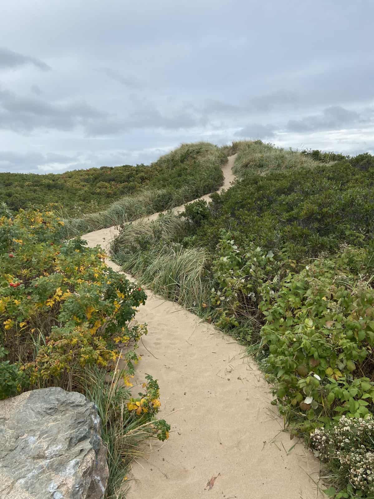
<svg viewBox="0 0 374 499"><path fill-rule="evenodd" d="M144 189L170 186L181 189L203 184L201 177L213 172L209 169L201 172L199 158L214 150L215 147L207 143L194 144L193 149L191 145L185 145L177 150L180 154L174 151L149 166L103 166L46 175L0 173L0 202L6 203L12 211L31 207L43 209L54 204L54 209L64 217L81 217ZM219 168L212 177L213 182L219 183ZM206 194L211 191L211 184L208 182L199 188Z"/></svg>

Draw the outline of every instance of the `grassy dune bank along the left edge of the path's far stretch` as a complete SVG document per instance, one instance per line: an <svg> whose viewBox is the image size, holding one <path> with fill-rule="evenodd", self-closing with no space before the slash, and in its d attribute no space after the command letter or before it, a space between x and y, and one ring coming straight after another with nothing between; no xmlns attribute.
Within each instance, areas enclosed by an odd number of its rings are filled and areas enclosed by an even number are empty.
<svg viewBox="0 0 374 499"><path fill-rule="evenodd" d="M65 220L66 234L80 235L185 204L216 191L223 183L224 152L213 144L183 144L152 163L150 188L125 196L105 211Z"/></svg>

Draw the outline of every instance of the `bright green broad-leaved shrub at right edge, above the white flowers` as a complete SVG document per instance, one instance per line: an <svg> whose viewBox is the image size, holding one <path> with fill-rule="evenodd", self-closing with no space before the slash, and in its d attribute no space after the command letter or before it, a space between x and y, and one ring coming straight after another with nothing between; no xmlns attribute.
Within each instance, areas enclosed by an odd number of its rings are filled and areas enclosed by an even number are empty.
<svg viewBox="0 0 374 499"><path fill-rule="evenodd" d="M279 409L308 432L339 415L373 410L374 290L368 250L344 247L289 274L279 291L261 288L264 364Z"/></svg>

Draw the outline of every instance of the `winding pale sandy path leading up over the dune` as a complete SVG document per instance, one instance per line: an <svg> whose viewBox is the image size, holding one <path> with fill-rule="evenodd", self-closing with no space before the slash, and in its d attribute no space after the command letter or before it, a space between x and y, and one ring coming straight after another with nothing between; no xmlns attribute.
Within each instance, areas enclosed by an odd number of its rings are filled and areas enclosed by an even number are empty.
<svg viewBox="0 0 374 499"><path fill-rule="evenodd" d="M233 160L223 167L224 188L233 180ZM82 238L107 248L114 234L111 228ZM309 477L318 479L317 460L281 431L269 385L243 357L242 346L151 291L137 320L148 323L143 342L149 351L140 345L135 383L146 373L159 380L160 418L172 425L172 433L166 443L152 442L152 452L133 465L128 499L322 497ZM208 491L212 477L217 478Z"/></svg>

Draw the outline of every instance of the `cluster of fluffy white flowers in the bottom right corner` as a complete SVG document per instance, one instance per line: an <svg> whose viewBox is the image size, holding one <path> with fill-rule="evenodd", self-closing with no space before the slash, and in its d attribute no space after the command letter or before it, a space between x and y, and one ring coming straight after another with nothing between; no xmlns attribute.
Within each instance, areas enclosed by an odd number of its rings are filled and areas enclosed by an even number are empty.
<svg viewBox="0 0 374 499"><path fill-rule="evenodd" d="M317 428L311 439L322 460L339 460L341 471L346 472L350 483L365 494L374 495L374 420L371 415L365 419L342 416L334 428Z"/></svg>

